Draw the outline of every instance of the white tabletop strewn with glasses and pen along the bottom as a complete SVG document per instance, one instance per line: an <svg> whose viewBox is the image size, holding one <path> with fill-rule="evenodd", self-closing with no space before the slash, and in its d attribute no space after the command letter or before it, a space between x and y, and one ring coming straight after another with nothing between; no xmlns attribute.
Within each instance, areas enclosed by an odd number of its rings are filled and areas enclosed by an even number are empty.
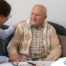
<svg viewBox="0 0 66 66"><path fill-rule="evenodd" d="M51 64L54 63L54 61L28 61L28 62L36 64L36 66L51 66ZM18 63L18 66L34 66L32 64L29 64L28 62L13 62L13 63L14 64ZM13 65L12 62L10 62L0 64L0 66L15 66L15 65Z"/></svg>

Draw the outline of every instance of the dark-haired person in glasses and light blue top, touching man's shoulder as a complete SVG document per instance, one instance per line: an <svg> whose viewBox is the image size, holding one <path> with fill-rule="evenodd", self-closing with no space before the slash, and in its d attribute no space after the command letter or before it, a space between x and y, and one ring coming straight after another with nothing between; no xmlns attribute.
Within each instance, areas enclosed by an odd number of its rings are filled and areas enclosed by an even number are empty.
<svg viewBox="0 0 66 66"><path fill-rule="evenodd" d="M0 25L4 24L11 16L11 6L5 0L0 0ZM0 28L0 38L4 39L14 33L15 29L21 22L17 23L13 27L9 27L8 29ZM8 61L8 58L5 56L0 56L0 62Z"/></svg>

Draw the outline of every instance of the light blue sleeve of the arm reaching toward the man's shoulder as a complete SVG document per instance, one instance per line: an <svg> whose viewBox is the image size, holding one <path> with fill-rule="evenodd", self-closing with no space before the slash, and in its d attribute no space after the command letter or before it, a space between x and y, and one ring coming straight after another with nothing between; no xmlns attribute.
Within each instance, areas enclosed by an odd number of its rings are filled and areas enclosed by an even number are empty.
<svg viewBox="0 0 66 66"><path fill-rule="evenodd" d="M1 29L0 28L0 38L4 39L13 34L15 29L13 27L9 27L8 29Z"/></svg>

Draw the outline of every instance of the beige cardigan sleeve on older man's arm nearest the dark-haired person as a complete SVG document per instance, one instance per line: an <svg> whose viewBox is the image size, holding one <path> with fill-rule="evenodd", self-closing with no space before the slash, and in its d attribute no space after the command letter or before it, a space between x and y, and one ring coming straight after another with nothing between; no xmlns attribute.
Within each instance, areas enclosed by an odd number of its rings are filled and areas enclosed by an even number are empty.
<svg viewBox="0 0 66 66"><path fill-rule="evenodd" d="M21 36L22 36L22 27L19 25L14 33L12 40L9 42L7 47L9 56L17 54L19 44L22 41Z"/></svg>

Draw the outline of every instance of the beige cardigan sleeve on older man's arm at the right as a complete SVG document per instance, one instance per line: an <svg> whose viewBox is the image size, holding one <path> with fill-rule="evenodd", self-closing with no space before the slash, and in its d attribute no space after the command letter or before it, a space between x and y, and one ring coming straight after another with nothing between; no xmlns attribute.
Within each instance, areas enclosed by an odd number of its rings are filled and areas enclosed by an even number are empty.
<svg viewBox="0 0 66 66"><path fill-rule="evenodd" d="M50 54L44 59L45 61L55 61L61 56L61 45L56 34L56 30L52 27L51 35L51 51Z"/></svg>

